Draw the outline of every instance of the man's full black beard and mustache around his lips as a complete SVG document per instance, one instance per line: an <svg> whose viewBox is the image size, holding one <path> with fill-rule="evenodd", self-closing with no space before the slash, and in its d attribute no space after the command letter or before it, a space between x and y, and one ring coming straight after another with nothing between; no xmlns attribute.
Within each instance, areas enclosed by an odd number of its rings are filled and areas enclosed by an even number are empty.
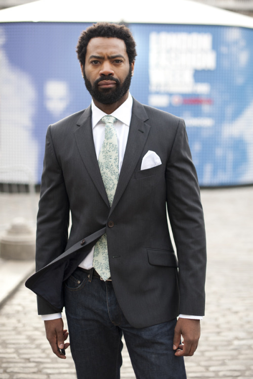
<svg viewBox="0 0 253 379"><path fill-rule="evenodd" d="M83 70L84 71L84 70ZM130 67L128 76L121 84L120 81L111 75L103 76L95 80L94 84L90 82L87 78L85 72L83 72L83 79L85 79L85 85L90 92L93 99L101 104L114 104L120 100L124 94L129 90L131 79L132 79L132 69ZM99 88L98 83L102 80L112 80L115 81L115 88Z"/></svg>

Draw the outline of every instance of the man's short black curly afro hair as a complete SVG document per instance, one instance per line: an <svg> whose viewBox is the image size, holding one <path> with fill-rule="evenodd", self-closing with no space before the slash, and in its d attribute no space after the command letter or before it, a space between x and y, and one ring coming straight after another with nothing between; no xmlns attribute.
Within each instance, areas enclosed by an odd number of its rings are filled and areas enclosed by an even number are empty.
<svg viewBox="0 0 253 379"><path fill-rule="evenodd" d="M126 53L128 54L129 63L132 64L137 56L136 43L134 37L125 25L112 24L109 22L98 22L83 30L76 46L76 53L79 62L85 66L85 58L87 52L87 45L92 38L105 37L105 38L119 38L122 39L126 46Z"/></svg>

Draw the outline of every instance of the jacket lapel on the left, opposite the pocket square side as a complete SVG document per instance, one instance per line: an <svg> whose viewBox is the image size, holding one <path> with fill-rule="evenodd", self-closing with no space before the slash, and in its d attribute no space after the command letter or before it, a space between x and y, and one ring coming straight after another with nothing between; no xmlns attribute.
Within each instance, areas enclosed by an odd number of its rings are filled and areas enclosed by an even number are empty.
<svg viewBox="0 0 253 379"><path fill-rule="evenodd" d="M108 205L108 207L110 207L94 146L91 121L91 106L87 108L85 112L83 112L77 121L77 125L79 127L74 132L74 134L81 159L85 164L87 171L89 172L89 175L96 185L101 197Z"/></svg>

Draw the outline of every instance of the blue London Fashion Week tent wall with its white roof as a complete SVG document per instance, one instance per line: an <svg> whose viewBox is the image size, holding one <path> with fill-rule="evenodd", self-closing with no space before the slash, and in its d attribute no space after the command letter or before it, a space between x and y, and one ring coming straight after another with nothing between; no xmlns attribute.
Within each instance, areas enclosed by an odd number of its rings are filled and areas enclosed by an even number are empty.
<svg viewBox="0 0 253 379"><path fill-rule="evenodd" d="M104 20L137 42L132 95L185 119L200 186L253 183L253 2L131 4L0 0L0 191L38 188L48 125L90 104L75 46Z"/></svg>

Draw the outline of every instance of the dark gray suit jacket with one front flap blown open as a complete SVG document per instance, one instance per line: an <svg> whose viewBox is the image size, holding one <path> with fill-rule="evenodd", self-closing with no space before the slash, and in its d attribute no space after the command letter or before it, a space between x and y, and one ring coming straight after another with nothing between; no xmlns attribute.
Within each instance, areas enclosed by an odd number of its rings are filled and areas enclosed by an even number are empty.
<svg viewBox="0 0 253 379"><path fill-rule="evenodd" d="M162 164L141 170L149 150ZM113 288L130 324L145 327L179 313L204 314L204 221L182 119L134 99L111 208L95 153L91 107L49 127L37 218L37 273L26 282L38 295L40 314L62 310L64 280L105 231Z"/></svg>

